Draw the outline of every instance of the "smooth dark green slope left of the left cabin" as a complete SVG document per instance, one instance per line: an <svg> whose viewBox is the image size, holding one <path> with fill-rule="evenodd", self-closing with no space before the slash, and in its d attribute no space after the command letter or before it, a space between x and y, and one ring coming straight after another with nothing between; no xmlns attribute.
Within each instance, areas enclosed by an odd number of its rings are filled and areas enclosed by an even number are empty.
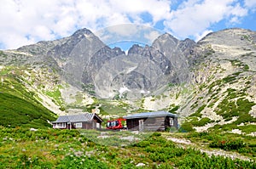
<svg viewBox="0 0 256 169"><path fill-rule="evenodd" d="M29 92L19 72L0 72L0 125L6 127L50 127L48 121L55 121L55 114L47 110L36 99L36 93Z"/></svg>

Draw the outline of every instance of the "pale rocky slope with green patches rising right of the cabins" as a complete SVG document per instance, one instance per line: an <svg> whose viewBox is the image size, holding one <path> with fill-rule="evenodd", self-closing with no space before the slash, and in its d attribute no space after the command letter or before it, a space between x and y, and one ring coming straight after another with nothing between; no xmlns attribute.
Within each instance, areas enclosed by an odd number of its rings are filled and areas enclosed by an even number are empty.
<svg viewBox="0 0 256 169"><path fill-rule="evenodd" d="M252 130L256 121L255 35L230 29L198 42L204 59L194 70L195 95L183 108L183 115L191 116L189 121L197 131L218 127L256 132Z"/></svg>

